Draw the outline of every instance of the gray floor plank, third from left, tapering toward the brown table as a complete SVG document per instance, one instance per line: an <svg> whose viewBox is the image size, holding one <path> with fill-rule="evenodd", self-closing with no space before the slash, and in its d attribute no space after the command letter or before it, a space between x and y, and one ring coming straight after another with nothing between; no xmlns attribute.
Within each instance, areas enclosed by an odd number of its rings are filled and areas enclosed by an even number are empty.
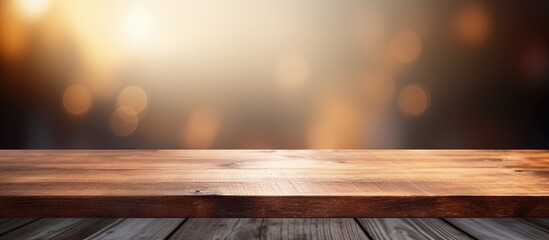
<svg viewBox="0 0 549 240"><path fill-rule="evenodd" d="M165 239L184 219L118 219L87 240Z"/></svg>

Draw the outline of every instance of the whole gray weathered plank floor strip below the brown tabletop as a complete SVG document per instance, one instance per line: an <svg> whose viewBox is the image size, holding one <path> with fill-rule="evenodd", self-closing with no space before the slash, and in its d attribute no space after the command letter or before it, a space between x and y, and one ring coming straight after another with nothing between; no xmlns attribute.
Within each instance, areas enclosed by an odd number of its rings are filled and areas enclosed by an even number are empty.
<svg viewBox="0 0 549 240"><path fill-rule="evenodd" d="M0 218L0 239L549 239L549 219Z"/></svg>

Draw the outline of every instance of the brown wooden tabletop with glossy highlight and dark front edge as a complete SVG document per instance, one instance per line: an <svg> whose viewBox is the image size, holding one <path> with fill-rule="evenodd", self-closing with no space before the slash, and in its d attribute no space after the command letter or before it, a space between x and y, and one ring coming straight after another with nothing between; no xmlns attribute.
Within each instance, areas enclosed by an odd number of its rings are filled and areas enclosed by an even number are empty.
<svg viewBox="0 0 549 240"><path fill-rule="evenodd" d="M549 151L5 150L0 217L549 217Z"/></svg>

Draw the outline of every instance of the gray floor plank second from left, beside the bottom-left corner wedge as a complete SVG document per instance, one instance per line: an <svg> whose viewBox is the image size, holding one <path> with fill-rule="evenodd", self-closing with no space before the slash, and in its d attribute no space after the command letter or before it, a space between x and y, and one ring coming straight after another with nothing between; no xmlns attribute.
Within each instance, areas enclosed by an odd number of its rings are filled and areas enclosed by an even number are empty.
<svg viewBox="0 0 549 240"><path fill-rule="evenodd" d="M112 224L116 219L78 219L50 218L40 219L17 230L11 231L1 239L83 239L98 230Z"/></svg>

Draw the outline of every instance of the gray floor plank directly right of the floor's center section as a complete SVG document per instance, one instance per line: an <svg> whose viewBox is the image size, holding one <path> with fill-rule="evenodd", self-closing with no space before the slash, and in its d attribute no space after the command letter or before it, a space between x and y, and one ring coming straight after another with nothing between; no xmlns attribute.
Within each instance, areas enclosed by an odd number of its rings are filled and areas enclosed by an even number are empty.
<svg viewBox="0 0 549 240"><path fill-rule="evenodd" d="M471 240L438 218L359 218L374 240Z"/></svg>

